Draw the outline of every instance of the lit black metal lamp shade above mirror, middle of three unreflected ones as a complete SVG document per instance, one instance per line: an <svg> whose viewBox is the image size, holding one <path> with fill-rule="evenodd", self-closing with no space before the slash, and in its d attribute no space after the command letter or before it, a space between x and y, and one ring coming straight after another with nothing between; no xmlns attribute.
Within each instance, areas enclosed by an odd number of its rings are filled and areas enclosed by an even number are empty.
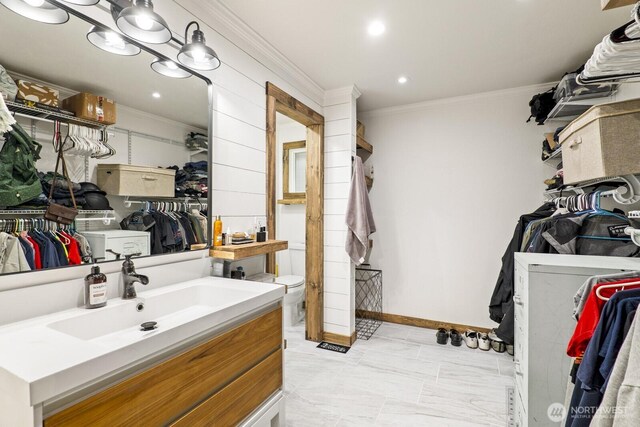
<svg viewBox="0 0 640 427"><path fill-rule="evenodd" d="M135 0L132 6L122 9L116 25L120 31L141 42L161 44L171 40L169 25L153 11L151 0Z"/></svg>

